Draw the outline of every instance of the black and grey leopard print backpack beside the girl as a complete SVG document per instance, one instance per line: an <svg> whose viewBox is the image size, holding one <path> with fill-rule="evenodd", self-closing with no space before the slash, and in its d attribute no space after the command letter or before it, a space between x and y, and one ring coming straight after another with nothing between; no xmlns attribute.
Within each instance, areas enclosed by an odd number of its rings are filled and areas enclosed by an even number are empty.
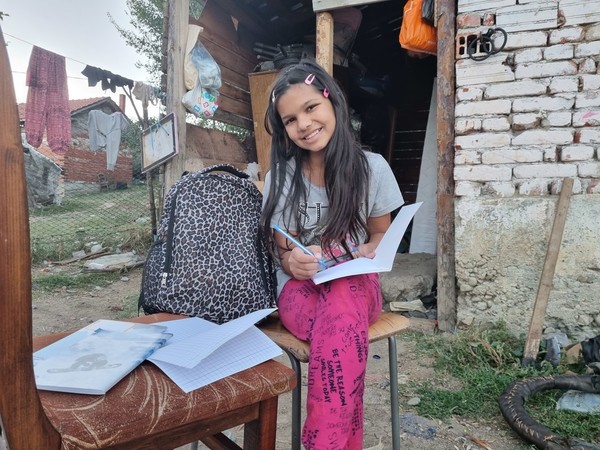
<svg viewBox="0 0 600 450"><path fill-rule="evenodd" d="M272 258L259 231L262 194L235 167L188 173L165 198L139 305L224 323L275 304Z"/></svg>

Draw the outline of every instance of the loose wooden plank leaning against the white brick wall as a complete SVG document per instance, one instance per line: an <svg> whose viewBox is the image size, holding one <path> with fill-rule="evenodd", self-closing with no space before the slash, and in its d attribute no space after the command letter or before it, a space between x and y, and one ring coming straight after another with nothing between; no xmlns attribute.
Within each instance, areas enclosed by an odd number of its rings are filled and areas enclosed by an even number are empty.
<svg viewBox="0 0 600 450"><path fill-rule="evenodd" d="M525 351L523 353L522 365L529 366L535 362L538 350L540 349L540 340L544 328L544 319L546 317L546 309L548 308L548 299L550 298L550 289L552 289L552 279L554 278L554 269L558 260L560 244L562 242L563 231L565 230L565 222L567 221L567 211L569 209L569 200L573 191L573 178L565 178L563 180L556 213L554 214L554 223L550 232L550 242L546 250L546 258L544 260L544 268L540 277L537 296L533 306L533 314L529 324L529 333L527 341L525 341Z"/></svg>

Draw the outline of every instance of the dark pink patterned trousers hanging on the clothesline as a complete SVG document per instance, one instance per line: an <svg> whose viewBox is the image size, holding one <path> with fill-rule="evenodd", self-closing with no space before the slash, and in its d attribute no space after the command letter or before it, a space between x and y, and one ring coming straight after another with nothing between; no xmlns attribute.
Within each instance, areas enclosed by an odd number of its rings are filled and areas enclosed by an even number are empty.
<svg viewBox="0 0 600 450"><path fill-rule="evenodd" d="M65 57L34 46L25 84L25 137L33 147L42 143L44 130L54 153L65 154L71 146L71 111Z"/></svg>

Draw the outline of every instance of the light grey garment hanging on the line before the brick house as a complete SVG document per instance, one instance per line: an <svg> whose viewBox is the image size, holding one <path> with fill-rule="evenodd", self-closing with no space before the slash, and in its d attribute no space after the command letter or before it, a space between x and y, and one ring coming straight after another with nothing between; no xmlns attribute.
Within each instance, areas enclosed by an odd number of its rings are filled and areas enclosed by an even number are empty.
<svg viewBox="0 0 600 450"><path fill-rule="evenodd" d="M115 170L117 157L119 156L119 145L121 144L121 131L128 126L127 118L120 112L106 114L94 109L88 115L90 150L95 152L104 148L107 170Z"/></svg>

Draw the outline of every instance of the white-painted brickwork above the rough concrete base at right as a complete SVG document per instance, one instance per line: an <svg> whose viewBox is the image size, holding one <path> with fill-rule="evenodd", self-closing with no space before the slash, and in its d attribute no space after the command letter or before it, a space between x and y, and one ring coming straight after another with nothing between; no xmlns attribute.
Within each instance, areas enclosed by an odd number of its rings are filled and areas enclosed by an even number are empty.
<svg viewBox="0 0 600 450"><path fill-rule="evenodd" d="M600 193L600 1L459 0L456 48L456 196Z"/></svg>

